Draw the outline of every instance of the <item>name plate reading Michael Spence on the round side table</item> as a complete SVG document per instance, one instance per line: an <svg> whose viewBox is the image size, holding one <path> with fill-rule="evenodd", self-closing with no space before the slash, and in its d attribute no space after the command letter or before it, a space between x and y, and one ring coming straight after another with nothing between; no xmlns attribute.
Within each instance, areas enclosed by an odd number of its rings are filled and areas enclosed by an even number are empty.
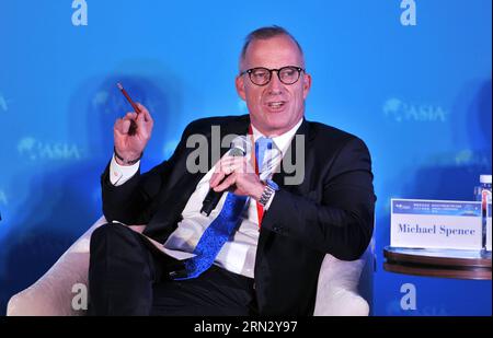
<svg viewBox="0 0 493 338"><path fill-rule="evenodd" d="M391 199L391 246L481 249L481 202Z"/></svg>

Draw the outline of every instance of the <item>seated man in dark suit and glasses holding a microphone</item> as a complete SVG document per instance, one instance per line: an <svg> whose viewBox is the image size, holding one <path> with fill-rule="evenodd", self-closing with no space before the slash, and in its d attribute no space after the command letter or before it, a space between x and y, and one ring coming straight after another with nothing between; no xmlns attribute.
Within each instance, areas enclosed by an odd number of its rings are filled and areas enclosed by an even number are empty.
<svg viewBox="0 0 493 338"><path fill-rule="evenodd" d="M193 121L173 155L145 174L151 115L139 105L141 114L115 123L101 182L108 223L91 237L90 313L312 314L325 254L354 260L365 252L375 195L365 143L305 119L310 86L296 39L263 27L246 37L236 79L249 115ZM243 156L221 148L217 161L215 132L246 136L251 147ZM191 171L200 143L191 138L207 144L205 171ZM207 215L210 189L227 194Z"/></svg>

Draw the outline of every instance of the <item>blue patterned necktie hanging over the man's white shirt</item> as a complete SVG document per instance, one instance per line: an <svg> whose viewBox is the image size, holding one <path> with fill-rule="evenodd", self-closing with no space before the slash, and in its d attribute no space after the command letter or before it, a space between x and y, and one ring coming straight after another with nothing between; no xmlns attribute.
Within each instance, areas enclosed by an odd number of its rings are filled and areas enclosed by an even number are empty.
<svg viewBox="0 0 493 338"><path fill-rule="evenodd" d="M272 149L272 139L260 138L255 142L259 167L262 167L265 150L267 149ZM214 264L216 256L240 224L240 215L246 205L246 200L248 196L228 193L221 212L200 236L194 249L196 256L184 260L183 271L172 272L174 275L171 277L174 280L196 278Z"/></svg>

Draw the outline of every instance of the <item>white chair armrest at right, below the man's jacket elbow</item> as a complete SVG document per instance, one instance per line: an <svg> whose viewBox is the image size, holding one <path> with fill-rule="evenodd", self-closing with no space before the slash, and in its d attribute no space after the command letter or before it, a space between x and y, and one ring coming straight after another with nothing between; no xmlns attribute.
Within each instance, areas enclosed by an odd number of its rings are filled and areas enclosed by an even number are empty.
<svg viewBox="0 0 493 338"><path fill-rule="evenodd" d="M325 255L317 285L314 316L367 316L368 302L358 294L364 259L340 260Z"/></svg>

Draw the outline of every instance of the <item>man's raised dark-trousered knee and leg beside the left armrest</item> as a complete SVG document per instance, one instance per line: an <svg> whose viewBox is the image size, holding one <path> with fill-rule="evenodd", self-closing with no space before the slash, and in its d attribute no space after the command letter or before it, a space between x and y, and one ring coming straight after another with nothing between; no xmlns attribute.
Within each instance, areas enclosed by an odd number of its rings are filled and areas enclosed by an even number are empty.
<svg viewBox="0 0 493 338"><path fill-rule="evenodd" d="M161 264L145 240L125 225L111 223L91 236L90 315L149 315L152 284Z"/></svg>

